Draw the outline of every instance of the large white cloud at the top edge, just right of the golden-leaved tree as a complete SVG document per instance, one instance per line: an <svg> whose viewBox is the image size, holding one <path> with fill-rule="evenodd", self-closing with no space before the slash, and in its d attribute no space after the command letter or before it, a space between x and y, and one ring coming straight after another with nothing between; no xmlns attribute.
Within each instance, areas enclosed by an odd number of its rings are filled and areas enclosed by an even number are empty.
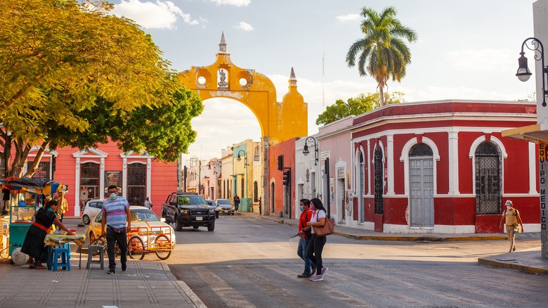
<svg viewBox="0 0 548 308"><path fill-rule="evenodd" d="M112 13L135 20L138 25L146 29L175 29L178 17L183 18L183 21L189 25L198 25L200 21L207 21L193 19L190 14L183 13L181 8L178 8L173 2L161 0L156 2L122 0L115 6Z"/></svg>

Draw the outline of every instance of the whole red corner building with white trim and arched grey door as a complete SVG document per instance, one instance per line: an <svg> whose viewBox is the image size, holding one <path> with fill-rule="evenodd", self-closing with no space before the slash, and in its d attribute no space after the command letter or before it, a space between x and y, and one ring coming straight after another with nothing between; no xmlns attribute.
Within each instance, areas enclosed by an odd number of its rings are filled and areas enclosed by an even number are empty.
<svg viewBox="0 0 548 308"><path fill-rule="evenodd" d="M498 233L511 199L526 231L539 231L537 146L501 136L535 123L535 103L501 101L400 103L355 117L351 226Z"/></svg>

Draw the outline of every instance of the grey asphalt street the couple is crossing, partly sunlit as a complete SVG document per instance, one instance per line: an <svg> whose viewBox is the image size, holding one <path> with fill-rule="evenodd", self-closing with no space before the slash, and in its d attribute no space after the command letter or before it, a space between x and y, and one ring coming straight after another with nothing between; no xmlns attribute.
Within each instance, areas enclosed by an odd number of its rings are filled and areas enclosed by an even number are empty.
<svg viewBox="0 0 548 308"><path fill-rule="evenodd" d="M548 276L478 265L507 241L386 242L330 236L325 281L297 278L296 227L223 216L183 229L167 260L207 307L545 307ZM521 239L518 250L538 249Z"/></svg>

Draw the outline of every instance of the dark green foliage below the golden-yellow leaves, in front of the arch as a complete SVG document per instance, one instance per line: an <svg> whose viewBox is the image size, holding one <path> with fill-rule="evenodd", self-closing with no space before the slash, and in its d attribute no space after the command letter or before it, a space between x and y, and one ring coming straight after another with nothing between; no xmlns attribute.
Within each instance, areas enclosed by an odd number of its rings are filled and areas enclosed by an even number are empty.
<svg viewBox="0 0 548 308"><path fill-rule="evenodd" d="M146 150L157 160L174 162L195 141L196 131L190 121L204 109L200 97L182 85L160 107L142 106L131 113L112 114L112 105L101 98L93 108L82 110L79 117L89 120L86 131L51 129L50 148L96 147L110 138L124 152Z"/></svg>

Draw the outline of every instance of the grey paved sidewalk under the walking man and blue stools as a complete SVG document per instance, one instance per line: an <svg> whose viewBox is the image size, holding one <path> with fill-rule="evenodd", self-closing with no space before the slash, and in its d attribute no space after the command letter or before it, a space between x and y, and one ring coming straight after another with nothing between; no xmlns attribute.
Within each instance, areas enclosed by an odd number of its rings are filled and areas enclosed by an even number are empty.
<svg viewBox="0 0 548 308"><path fill-rule="evenodd" d="M1 307L205 307L183 282L171 275L167 264L128 261L106 274L98 264L78 269L73 253L71 271L29 269L27 265L0 264ZM87 255L86 255L87 256ZM84 255L82 255L84 258ZM119 262L117 262L119 265Z"/></svg>

